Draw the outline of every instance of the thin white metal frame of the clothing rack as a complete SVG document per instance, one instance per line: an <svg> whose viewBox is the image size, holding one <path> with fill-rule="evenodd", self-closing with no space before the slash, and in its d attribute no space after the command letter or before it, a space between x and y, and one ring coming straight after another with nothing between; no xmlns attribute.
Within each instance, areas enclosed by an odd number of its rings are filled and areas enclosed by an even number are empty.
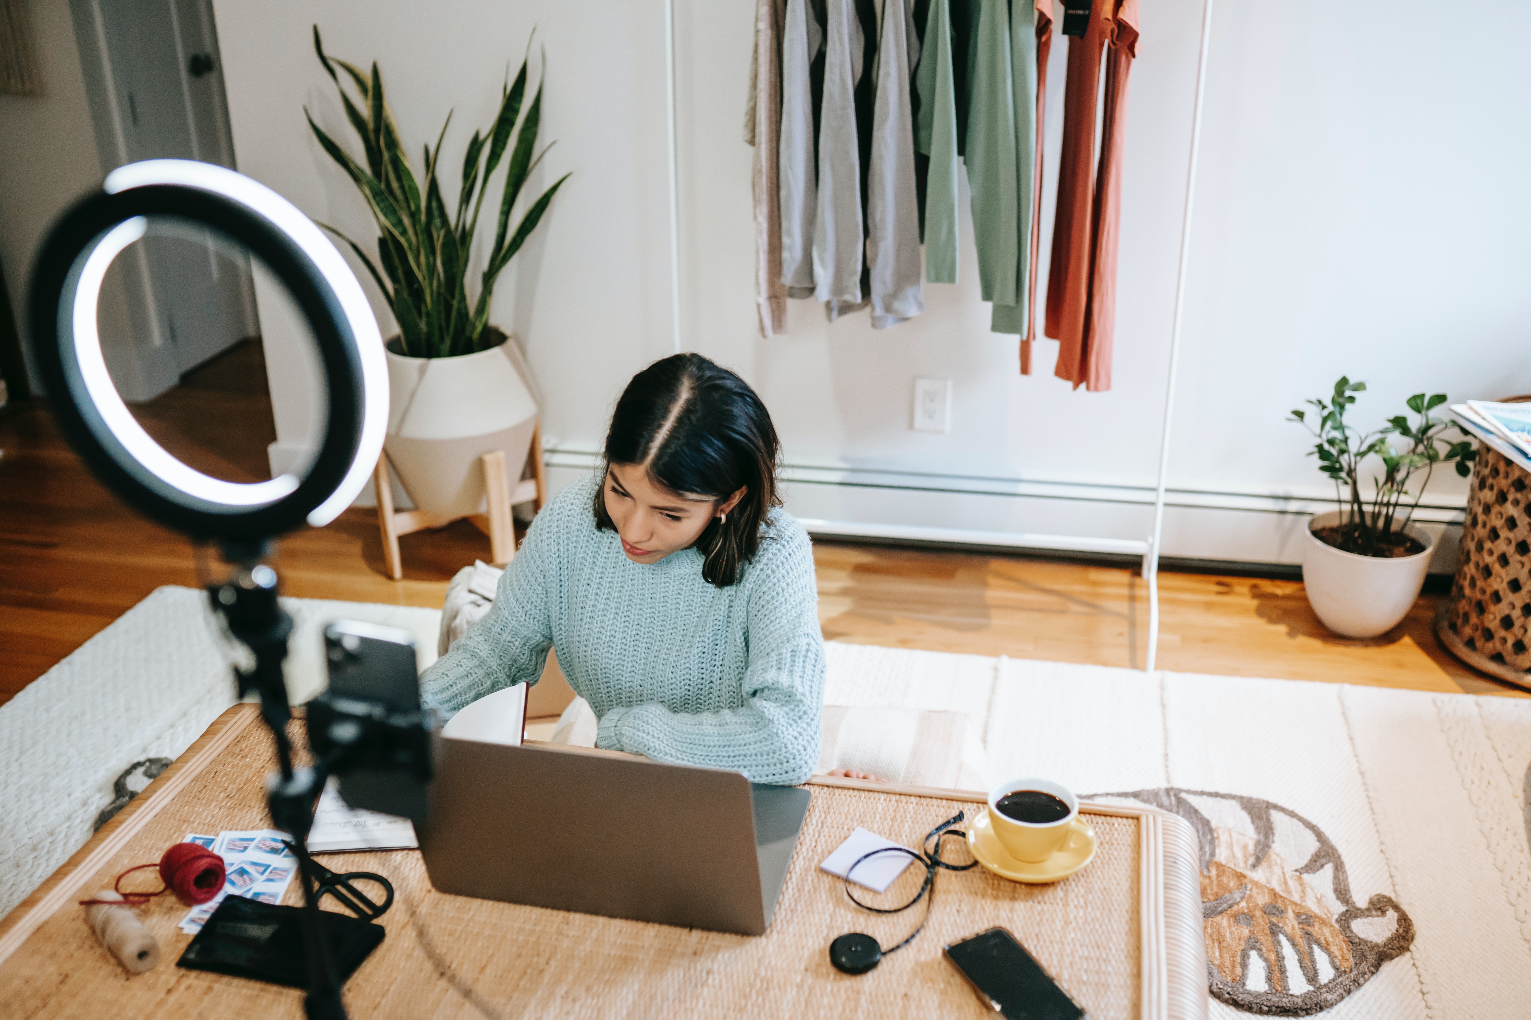
<svg viewBox="0 0 1531 1020"><path fill-rule="evenodd" d="M942 544L994 546L1001 549L1047 549L1053 552L1107 552L1141 555L1148 583L1148 655L1144 671L1153 673L1159 658L1159 549L1164 541L1165 479L1170 471L1170 422L1174 414L1174 384L1180 356L1180 327L1185 310L1185 269L1191 254L1191 213L1196 206L1196 168L1202 141L1202 101L1206 95L1206 54L1213 34L1213 0L1202 0L1202 40L1196 58L1196 99L1191 109L1191 151L1185 174L1185 208L1180 217L1180 260L1174 278L1174 318L1170 327L1170 367L1165 373L1164 417L1159 422L1159 477L1154 485L1153 531L1147 538L1098 538L1089 535L1044 535L1009 531L968 531L961 528L922 528L916 525L862 525L799 518L813 535L837 538L899 538ZM671 313L672 343L681 352L680 318L680 187L678 139L675 130L675 0L664 0L664 72L669 99L669 188L671 188Z"/></svg>

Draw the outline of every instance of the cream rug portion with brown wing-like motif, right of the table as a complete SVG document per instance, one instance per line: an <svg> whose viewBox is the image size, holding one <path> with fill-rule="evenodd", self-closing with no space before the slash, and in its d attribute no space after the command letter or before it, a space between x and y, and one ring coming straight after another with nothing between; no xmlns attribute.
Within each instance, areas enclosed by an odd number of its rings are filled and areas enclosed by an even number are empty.
<svg viewBox="0 0 1531 1020"><path fill-rule="evenodd" d="M1531 702L836 644L825 702L1191 821L1214 1017L1531 1017Z"/></svg>

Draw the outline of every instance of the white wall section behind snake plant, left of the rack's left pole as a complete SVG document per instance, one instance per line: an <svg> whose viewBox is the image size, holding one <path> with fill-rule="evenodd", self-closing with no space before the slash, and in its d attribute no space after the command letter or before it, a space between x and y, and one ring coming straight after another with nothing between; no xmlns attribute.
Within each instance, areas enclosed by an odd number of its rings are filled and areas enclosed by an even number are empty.
<svg viewBox="0 0 1531 1020"><path fill-rule="evenodd" d="M589 443L626 379L671 350L660 9L658 0L473 0L427 15L412 3L214 0L239 170L375 249L366 206L303 119L308 106L320 125L360 153L314 55L311 24L318 23L335 57L361 66L378 61L409 151L433 144L453 112L442 150L447 194L455 194L468 136L475 127L487 132L499 107L507 63L514 73L536 29L534 69L539 50L547 52L540 141L557 145L527 191L539 193L565 171L574 176L501 275L491 321L525 343L548 393L544 431ZM481 239L493 239L495 199L485 202ZM387 335L392 317L354 265ZM257 297L277 440L299 445L311 430L308 396L292 385L295 373L273 343L280 320L268 313L271 295L260 289Z"/></svg>

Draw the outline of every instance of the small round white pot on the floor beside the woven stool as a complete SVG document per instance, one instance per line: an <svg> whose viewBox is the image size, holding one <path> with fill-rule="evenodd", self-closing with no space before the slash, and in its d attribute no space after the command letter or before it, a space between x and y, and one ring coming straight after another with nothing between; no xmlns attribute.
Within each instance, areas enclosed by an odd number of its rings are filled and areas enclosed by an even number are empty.
<svg viewBox="0 0 1531 1020"><path fill-rule="evenodd" d="M1314 528L1332 528L1341 520L1349 515L1330 511L1307 521L1303 587L1324 627L1343 638L1375 638L1396 627L1419 598L1435 543L1413 523L1402 531L1424 543L1424 552L1412 557L1361 557L1314 535Z"/></svg>

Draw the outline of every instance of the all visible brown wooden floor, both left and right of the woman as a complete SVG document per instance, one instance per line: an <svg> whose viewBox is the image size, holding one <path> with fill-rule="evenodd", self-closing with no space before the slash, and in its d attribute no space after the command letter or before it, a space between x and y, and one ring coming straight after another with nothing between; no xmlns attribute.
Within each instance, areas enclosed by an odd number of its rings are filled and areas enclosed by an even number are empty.
<svg viewBox="0 0 1531 1020"><path fill-rule="evenodd" d="M141 417L246 422L243 447L236 443L243 453L219 456L243 463L230 471L265 477L269 437L250 424L262 408L269 416L262 399L228 388L191 393L181 411L167 401ZM178 419L187 408L194 414ZM176 434L194 439L194 430ZM404 580L395 583L384 575L374 512L351 509L329 528L285 538L274 563L288 595L438 607L452 573L488 557L488 538L458 521L406 537L403 551ZM830 639L1142 667L1148 603L1134 570L839 543L818 543L814 560ZM202 561L213 569L207 551ZM0 419L0 702L155 587L201 580L191 544L98 486L46 408ZM1439 596L1421 598L1384 638L1346 641L1318 624L1292 581L1167 572L1160 592L1159 665L1167 670L1528 696L1436 642L1430 622Z"/></svg>

